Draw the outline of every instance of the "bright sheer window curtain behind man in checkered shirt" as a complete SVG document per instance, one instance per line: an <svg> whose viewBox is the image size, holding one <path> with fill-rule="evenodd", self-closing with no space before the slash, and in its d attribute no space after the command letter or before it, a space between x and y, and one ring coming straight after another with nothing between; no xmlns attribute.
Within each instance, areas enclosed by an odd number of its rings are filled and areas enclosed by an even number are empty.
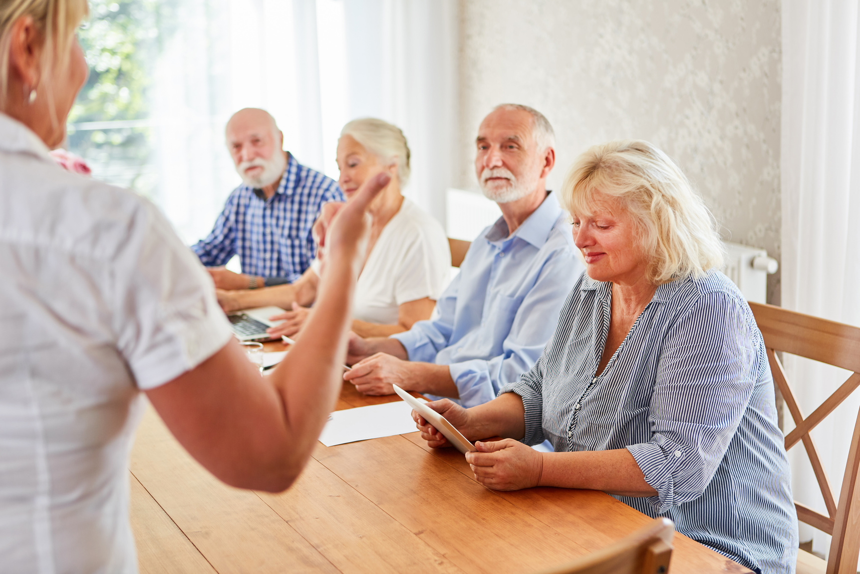
<svg viewBox="0 0 860 574"><path fill-rule="evenodd" d="M239 183L224 124L267 109L285 147L323 168L314 0L183 0L156 64L156 201L188 243L206 234Z"/></svg>

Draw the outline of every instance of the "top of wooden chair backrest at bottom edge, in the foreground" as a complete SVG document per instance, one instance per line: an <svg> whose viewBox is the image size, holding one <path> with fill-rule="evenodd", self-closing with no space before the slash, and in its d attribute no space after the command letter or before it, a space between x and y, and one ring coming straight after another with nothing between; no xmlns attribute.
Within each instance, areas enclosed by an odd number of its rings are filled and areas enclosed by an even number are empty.
<svg viewBox="0 0 860 574"><path fill-rule="evenodd" d="M674 534L671 520L655 518L612 546L541 574L666 574Z"/></svg>

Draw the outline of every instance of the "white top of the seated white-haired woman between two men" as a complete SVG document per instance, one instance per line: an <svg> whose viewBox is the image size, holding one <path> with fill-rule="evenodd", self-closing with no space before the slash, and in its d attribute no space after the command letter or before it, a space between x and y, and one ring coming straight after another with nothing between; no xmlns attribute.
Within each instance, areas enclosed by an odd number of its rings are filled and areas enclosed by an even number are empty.
<svg viewBox="0 0 860 574"><path fill-rule="evenodd" d="M319 275L320 263L311 263ZM361 269L353 318L396 324L398 307L416 299L439 299L451 268L451 248L439 221L408 198L385 224Z"/></svg>

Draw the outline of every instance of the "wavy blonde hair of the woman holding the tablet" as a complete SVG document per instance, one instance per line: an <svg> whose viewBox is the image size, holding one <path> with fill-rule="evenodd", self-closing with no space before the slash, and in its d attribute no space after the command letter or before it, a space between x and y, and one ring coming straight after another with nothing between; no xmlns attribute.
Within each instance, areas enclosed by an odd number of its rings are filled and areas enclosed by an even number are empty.
<svg viewBox="0 0 860 574"><path fill-rule="evenodd" d="M716 219L670 157L642 140L593 145L571 166L561 201L574 215L589 213L599 196L620 199L639 227L638 243L653 254L655 284L701 277L722 267Z"/></svg>

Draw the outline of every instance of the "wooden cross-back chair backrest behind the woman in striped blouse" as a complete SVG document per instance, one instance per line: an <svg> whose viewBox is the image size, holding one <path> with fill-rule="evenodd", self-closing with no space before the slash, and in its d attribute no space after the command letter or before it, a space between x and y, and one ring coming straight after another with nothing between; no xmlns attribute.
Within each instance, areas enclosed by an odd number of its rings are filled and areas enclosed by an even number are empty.
<svg viewBox="0 0 860 574"><path fill-rule="evenodd" d="M857 554L860 552L860 528L857 528L860 520L860 504L857 504L857 497L860 497L857 472L860 467L860 456L857 452L857 446L860 444L860 413L854 425L851 450L848 454L848 464L845 466L838 504L833 498L830 481L821 466L809 431L851 395L857 386L860 386L860 329L788 311L781 307L760 303L749 305L753 309L759 330L765 337L765 348L771 364L773 380L783 393L785 405L795 421L795 429L785 436L785 449L793 447L798 441L803 442L827 509L827 515L823 515L795 501L797 518L832 535L827 559L827 574L836 572L854 574L857 572ZM803 417L789 381L785 377L783 363L777 356L779 351L844 368L853 373L808 417ZM808 381L807 384L814 384L814 382Z"/></svg>

